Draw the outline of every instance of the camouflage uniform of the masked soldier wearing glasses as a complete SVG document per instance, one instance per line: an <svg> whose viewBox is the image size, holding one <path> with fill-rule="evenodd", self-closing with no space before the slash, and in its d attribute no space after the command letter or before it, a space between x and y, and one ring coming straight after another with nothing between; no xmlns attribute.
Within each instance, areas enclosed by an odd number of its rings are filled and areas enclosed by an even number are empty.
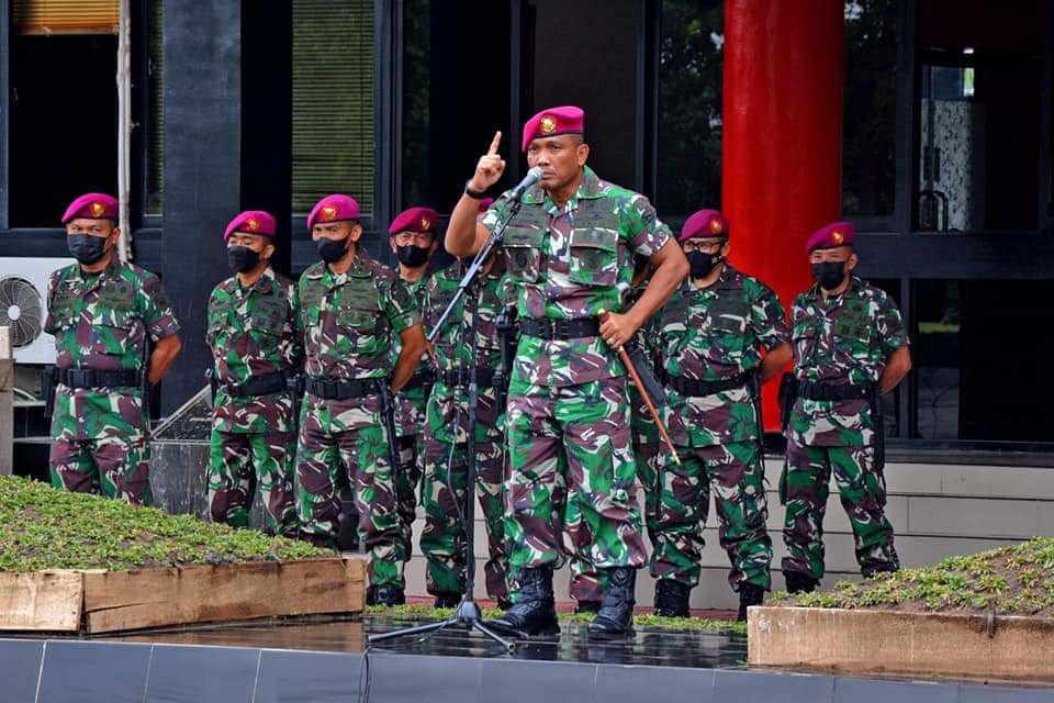
<svg viewBox="0 0 1054 703"><path fill-rule="evenodd" d="M726 264L706 288L686 279L657 321L662 370L669 379L664 421L681 464L668 461L659 470L651 573L688 588L699 582L713 487L718 534L731 565L729 583L733 590L743 582L769 589L772 540L765 529L769 511L753 388L762 349L789 341L783 305L767 286ZM730 388L689 395L677 392L680 379Z"/></svg>

